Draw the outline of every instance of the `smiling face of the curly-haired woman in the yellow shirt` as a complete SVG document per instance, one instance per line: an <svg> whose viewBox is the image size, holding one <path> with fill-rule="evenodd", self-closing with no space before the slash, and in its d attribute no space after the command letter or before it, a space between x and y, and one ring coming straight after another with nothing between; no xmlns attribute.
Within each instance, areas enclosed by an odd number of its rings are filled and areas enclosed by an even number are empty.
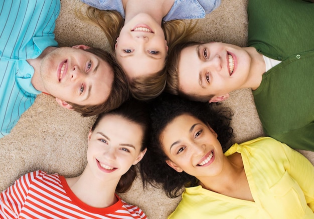
<svg viewBox="0 0 314 219"><path fill-rule="evenodd" d="M202 181L221 173L222 151L216 132L201 120L182 114L172 120L160 137L167 163L178 172L185 171Z"/></svg>

